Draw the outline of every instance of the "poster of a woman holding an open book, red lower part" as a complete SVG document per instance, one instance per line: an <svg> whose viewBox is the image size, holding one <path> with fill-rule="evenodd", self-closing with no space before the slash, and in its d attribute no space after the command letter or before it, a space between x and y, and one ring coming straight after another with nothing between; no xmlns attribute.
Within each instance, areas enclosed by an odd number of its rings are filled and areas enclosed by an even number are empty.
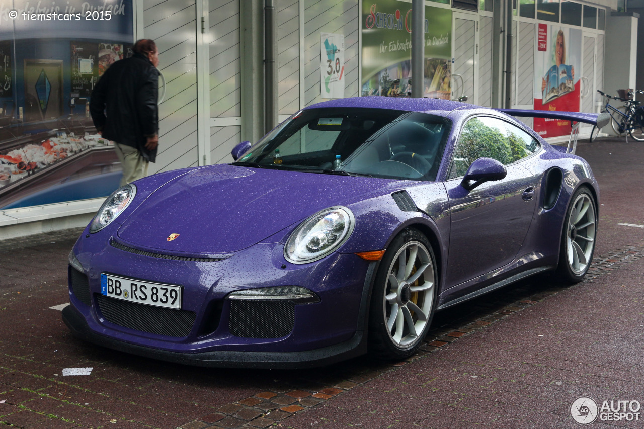
<svg viewBox="0 0 644 429"><path fill-rule="evenodd" d="M535 110L579 111L582 30L539 24L536 48ZM544 138L571 131L556 119L535 118L534 128Z"/></svg>

